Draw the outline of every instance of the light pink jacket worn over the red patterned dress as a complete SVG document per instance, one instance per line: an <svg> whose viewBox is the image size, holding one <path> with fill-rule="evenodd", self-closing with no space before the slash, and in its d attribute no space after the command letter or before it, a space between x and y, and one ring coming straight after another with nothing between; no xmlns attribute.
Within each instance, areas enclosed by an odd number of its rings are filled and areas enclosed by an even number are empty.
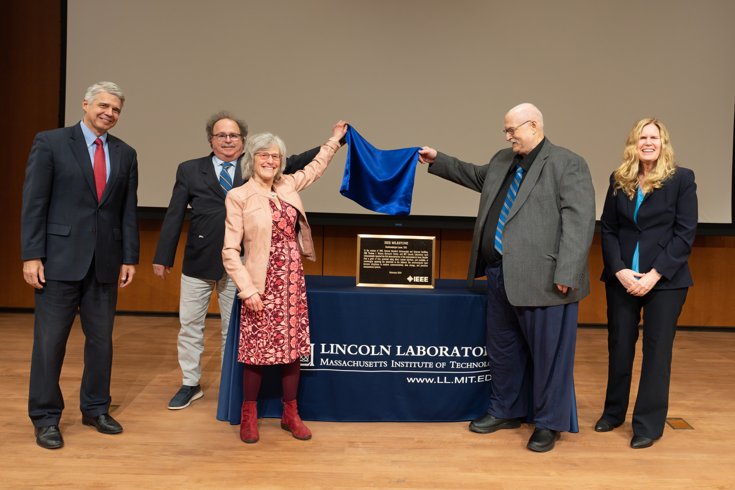
<svg viewBox="0 0 735 490"><path fill-rule="evenodd" d="M322 176L338 149L340 143L334 138L329 138L304 170L298 170L293 175L282 175L279 181L273 182L273 189L279 200L298 209L298 222L301 228L298 231L298 251L312 262L316 260L312 230L306 222L304 204L298 197L298 191L306 189ZM270 234L273 227L268 203L270 193L258 187L254 179L227 192L222 261L226 272L237 286L239 291L237 295L243 300L256 292L262 295L265 290L265 275L270 260ZM243 262L240 262L241 242L245 248Z"/></svg>

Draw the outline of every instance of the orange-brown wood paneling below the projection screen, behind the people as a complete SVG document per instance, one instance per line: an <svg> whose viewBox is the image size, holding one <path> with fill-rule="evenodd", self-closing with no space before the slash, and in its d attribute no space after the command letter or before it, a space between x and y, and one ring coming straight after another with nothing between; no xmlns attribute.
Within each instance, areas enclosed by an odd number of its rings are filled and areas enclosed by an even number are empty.
<svg viewBox="0 0 735 490"><path fill-rule="evenodd" d="M188 223L184 223L176 264L166 281L153 275L151 267L161 223L159 220L140 220L140 265L133 284L121 289L119 310L179 310L181 261ZM312 226L312 231L317 261L304 260L306 274L355 275L357 234L362 233L436 236L440 278L467 277L471 230L316 225ZM605 285L598 281L603 269L600 234L595 234L588 260L592 278L590 295L579 305L579 322L606 323ZM731 278L735 277L735 237L697 237L689 267L695 287L689 289L679 325L735 326L735 301L732 299L735 288L731 283ZM219 312L215 295L212 295L209 311Z"/></svg>

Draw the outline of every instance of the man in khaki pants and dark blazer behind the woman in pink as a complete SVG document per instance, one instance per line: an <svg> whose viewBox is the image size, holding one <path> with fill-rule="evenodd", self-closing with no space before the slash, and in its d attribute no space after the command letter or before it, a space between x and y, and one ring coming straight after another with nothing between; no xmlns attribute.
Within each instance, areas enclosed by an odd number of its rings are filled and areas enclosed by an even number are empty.
<svg viewBox="0 0 735 490"><path fill-rule="evenodd" d="M205 129L212 153L183 162L176 170L176 184L173 185L171 203L168 204L153 259L154 274L165 280L164 271L170 274L173 267L184 215L191 212L179 302L182 328L177 342L184 376L181 389L168 403L171 410L186 408L204 395L199 381L201 355L204 353L204 318L207 317L212 289L217 291L222 317L221 358L225 352L234 301L235 287L222 264L227 216L225 196L229 190L245 182L240 173L240 157L248 136L248 125L230 112L221 111L207 120ZM320 146L290 156L285 162L284 173L294 173L306 167L319 150Z"/></svg>

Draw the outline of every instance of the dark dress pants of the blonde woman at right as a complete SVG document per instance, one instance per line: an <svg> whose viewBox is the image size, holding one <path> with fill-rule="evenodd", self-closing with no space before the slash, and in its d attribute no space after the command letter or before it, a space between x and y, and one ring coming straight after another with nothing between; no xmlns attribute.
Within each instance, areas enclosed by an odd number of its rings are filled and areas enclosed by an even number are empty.
<svg viewBox="0 0 735 490"><path fill-rule="evenodd" d="M643 362L632 422L636 436L659 439L664 435L676 323L688 291L688 287L653 289L646 295L634 296L623 286L605 284L610 361L602 418L613 425L625 422L628 412L643 309Z"/></svg>

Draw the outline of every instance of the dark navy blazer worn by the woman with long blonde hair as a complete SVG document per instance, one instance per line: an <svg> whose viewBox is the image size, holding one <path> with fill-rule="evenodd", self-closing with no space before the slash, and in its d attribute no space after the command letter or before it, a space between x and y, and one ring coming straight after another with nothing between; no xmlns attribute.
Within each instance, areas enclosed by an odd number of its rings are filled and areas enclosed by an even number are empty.
<svg viewBox="0 0 735 490"><path fill-rule="evenodd" d="M613 195L614 181L611 175L600 217L605 264L600 281L620 284L615 273L632 268L633 254L639 244L640 271L648 273L656 268L664 275L653 289L693 286L686 259L692 253L698 221L694 172L676 167L673 177L660 189L645 195L638 209L638 224L633 220L636 198L631 200L622 190Z"/></svg>

